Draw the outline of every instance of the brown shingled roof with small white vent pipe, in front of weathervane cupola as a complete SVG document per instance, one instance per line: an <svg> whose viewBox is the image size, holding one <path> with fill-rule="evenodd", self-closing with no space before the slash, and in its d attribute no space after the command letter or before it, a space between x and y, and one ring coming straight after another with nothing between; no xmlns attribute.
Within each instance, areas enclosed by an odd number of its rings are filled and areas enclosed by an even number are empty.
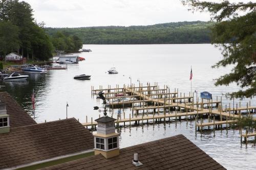
<svg viewBox="0 0 256 170"><path fill-rule="evenodd" d="M143 165L132 164L138 153ZM120 155L102 155L70 161L44 169L225 169L183 135L177 135L120 149Z"/></svg>

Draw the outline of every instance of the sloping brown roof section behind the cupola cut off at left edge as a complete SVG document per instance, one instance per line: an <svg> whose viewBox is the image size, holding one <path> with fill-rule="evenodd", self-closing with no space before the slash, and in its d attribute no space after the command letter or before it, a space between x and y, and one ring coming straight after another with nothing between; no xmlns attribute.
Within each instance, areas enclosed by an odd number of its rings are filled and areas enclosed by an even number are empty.
<svg viewBox="0 0 256 170"><path fill-rule="evenodd" d="M35 120L12 98L8 92L0 92L0 101L7 104L10 115L10 127L36 124Z"/></svg>

